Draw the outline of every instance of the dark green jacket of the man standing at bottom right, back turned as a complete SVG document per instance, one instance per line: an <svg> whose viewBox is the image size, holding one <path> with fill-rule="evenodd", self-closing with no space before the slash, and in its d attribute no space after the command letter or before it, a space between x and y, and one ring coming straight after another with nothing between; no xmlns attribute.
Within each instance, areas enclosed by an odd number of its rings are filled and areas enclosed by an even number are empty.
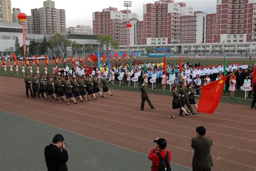
<svg viewBox="0 0 256 171"><path fill-rule="evenodd" d="M191 142L191 147L194 148L192 166L199 169L208 169L212 167L212 139L200 135L198 138L192 138Z"/></svg>

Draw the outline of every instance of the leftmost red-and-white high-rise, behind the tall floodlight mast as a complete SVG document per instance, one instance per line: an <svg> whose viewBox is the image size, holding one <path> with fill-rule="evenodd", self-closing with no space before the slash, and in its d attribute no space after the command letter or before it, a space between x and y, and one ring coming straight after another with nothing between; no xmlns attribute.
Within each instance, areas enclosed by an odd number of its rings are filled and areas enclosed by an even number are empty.
<svg viewBox="0 0 256 171"><path fill-rule="evenodd" d="M92 13L92 26L94 35L109 35L127 44L127 20L137 19L138 15L130 10L118 11L117 8L103 9L102 12Z"/></svg>

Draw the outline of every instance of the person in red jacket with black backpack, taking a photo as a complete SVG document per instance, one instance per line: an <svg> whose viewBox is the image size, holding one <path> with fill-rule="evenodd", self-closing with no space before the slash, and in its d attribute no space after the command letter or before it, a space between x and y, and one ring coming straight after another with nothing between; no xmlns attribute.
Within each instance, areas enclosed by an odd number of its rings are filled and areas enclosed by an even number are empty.
<svg viewBox="0 0 256 171"><path fill-rule="evenodd" d="M170 162L172 153L166 149L166 140L163 138L157 138L157 140L154 140L153 142L156 142L157 145L151 150L148 156L149 160L152 161L151 171L171 170ZM163 162L160 158L165 160L165 166L161 165ZM166 161L167 159L168 161Z"/></svg>

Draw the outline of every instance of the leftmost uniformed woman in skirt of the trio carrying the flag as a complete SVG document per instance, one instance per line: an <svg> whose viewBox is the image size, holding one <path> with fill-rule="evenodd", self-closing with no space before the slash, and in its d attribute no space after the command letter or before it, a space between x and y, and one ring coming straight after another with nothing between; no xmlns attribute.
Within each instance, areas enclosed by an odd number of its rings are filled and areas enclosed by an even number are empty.
<svg viewBox="0 0 256 171"><path fill-rule="evenodd" d="M185 110L185 108L181 105L181 102L180 102L180 97L181 95L177 92L178 90L178 86L177 85L174 85L173 87L173 91L172 91L172 96L173 96L173 99L172 99L172 115L171 115L171 118L172 119L175 119L174 115L173 115L173 112L174 110L176 110L177 108L181 108L181 110L183 110L183 112L185 114L188 114L187 111ZM183 117L185 115L182 115Z"/></svg>

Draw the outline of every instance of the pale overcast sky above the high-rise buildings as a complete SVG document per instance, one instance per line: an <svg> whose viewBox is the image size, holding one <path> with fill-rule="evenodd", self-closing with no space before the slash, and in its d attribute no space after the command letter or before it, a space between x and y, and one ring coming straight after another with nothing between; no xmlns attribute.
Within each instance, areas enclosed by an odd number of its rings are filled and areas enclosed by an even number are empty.
<svg viewBox="0 0 256 171"><path fill-rule="evenodd" d="M43 7L44 0L11 0L11 8L20 8L21 12L31 15L31 9ZM195 11L207 13L216 12L216 0L174 0L174 3L185 2L193 6ZM129 8L139 15L139 20L143 19L143 4L154 3L147 0L133 0ZM92 12L102 11L104 8L116 7L123 10L122 0L55 0L55 8L66 11L66 28L76 25L91 25Z"/></svg>

